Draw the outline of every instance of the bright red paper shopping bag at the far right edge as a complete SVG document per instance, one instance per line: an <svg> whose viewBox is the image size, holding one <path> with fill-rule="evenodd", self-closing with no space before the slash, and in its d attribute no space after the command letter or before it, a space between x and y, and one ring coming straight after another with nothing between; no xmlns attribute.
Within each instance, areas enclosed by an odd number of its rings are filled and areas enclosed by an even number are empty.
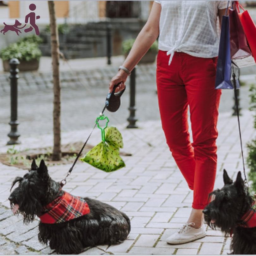
<svg viewBox="0 0 256 256"><path fill-rule="evenodd" d="M245 10L238 1L236 1L236 6L238 10L238 16L241 21L244 33L246 35L247 41L249 43L252 55L256 61L256 26L253 22L253 19L249 15L248 11ZM243 12L240 13L239 6L243 9Z"/></svg>

